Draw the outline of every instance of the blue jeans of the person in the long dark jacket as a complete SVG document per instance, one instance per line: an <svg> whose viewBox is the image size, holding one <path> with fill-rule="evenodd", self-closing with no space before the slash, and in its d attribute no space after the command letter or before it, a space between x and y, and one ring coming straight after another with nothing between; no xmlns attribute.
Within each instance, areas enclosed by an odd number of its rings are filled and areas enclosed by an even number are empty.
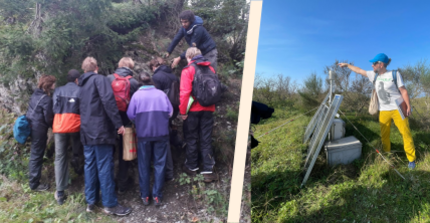
<svg viewBox="0 0 430 223"><path fill-rule="evenodd" d="M95 204L102 192L105 207L115 207L118 200L113 180L113 145L84 145L85 156L85 198L88 204Z"/></svg>

